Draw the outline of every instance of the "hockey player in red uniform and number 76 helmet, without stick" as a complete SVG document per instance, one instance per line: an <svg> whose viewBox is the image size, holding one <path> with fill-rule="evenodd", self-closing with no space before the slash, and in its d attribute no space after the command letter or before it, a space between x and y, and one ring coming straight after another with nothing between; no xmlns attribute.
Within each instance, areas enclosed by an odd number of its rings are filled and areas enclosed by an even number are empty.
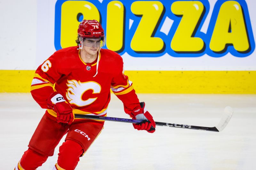
<svg viewBox="0 0 256 170"><path fill-rule="evenodd" d="M125 113L132 119L144 120L133 124L135 129L155 131L153 117L124 75L121 56L101 49L105 36L100 23L83 20L77 32L78 46L56 51L36 70L31 94L47 110L15 170L41 166L66 133L53 169L75 169L79 157L100 134L104 121L80 119L74 114L106 116L110 89L124 103Z"/></svg>

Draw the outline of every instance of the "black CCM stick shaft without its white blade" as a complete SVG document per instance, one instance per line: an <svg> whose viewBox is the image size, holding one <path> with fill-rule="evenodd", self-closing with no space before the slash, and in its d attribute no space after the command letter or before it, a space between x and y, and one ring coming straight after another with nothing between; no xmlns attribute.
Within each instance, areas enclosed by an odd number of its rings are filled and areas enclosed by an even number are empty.
<svg viewBox="0 0 256 170"><path fill-rule="evenodd" d="M103 117L103 116L92 116L92 115L81 115L81 114L75 114L75 118L106 120L106 121L125 122L125 123L140 123L140 122L142 122L142 120L133 120L133 119L127 119L127 118ZM172 124L172 123L156 122L156 125L157 126L175 127L175 128L184 128L184 129L195 129L195 130L202 130L202 131L216 131L216 132L219 131L216 127L193 126L193 125L186 125L186 124Z"/></svg>

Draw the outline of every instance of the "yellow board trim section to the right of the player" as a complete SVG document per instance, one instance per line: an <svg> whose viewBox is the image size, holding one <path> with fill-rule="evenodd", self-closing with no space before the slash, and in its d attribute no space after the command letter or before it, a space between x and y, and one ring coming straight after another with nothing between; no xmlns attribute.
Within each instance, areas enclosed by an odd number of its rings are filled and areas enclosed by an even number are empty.
<svg viewBox="0 0 256 170"><path fill-rule="evenodd" d="M256 94L256 71L127 71L137 93Z"/></svg>

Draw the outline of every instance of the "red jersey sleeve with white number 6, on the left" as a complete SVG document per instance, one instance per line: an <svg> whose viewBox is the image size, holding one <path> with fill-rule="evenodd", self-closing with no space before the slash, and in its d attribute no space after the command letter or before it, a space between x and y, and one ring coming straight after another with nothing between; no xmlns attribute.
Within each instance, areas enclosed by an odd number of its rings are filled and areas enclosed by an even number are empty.
<svg viewBox="0 0 256 170"><path fill-rule="evenodd" d="M34 100L43 108L47 109L47 98L52 94L54 83L60 79L57 57L53 54L44 61L37 69L31 83L30 93Z"/></svg>

